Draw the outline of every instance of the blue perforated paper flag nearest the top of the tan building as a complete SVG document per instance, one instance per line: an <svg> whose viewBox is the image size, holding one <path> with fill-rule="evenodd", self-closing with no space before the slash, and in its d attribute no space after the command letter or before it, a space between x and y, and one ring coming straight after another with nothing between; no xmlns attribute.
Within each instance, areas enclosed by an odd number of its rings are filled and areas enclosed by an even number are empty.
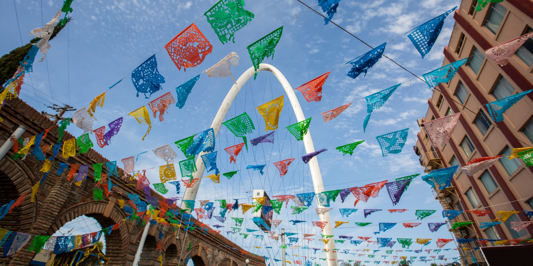
<svg viewBox="0 0 533 266"><path fill-rule="evenodd" d="M411 42L413 42L413 45L415 45L418 53L422 55L422 58L424 58L424 56L431 51L431 47L433 47L433 44L435 44L435 41L439 37L440 31L442 30L444 20L456 8L457 6L446 11L446 13L437 16L437 18L434 18L422 24L421 26L416 27L415 30L407 36Z"/></svg>

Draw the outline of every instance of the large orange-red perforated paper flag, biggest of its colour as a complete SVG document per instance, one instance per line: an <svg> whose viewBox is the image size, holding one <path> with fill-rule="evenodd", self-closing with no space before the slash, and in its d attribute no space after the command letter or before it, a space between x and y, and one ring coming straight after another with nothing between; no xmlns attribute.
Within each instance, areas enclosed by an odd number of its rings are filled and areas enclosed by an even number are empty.
<svg viewBox="0 0 533 266"><path fill-rule="evenodd" d="M169 41L165 48L177 69L193 68L204 61L213 46L194 23Z"/></svg>

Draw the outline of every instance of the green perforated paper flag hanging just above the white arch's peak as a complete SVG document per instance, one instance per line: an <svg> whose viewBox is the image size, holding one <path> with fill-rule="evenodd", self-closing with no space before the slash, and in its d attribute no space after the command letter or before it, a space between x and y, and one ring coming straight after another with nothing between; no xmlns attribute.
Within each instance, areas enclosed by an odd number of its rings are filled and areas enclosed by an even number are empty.
<svg viewBox="0 0 533 266"><path fill-rule="evenodd" d="M272 59L274 59L274 48L276 48L276 45L278 44L279 39L281 38L282 32L283 26L270 32L268 35L246 47L248 49L248 54L250 55L250 59L252 60L254 69L256 71L254 75L254 80L257 77L257 69L259 69L259 64L265 59L265 57L272 56Z"/></svg>

